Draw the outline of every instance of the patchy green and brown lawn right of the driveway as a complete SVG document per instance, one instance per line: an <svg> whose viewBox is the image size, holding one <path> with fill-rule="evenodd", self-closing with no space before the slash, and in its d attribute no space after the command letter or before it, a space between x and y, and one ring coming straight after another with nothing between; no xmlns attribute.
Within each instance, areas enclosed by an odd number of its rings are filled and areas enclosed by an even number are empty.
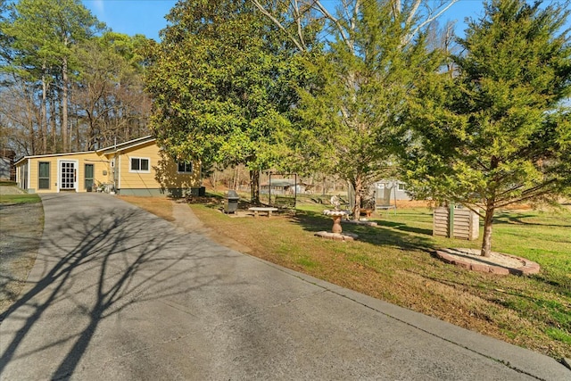
<svg viewBox="0 0 571 381"><path fill-rule="evenodd" d="M343 231L359 235L352 243L313 236L331 228L318 204L272 219L231 219L203 205L192 208L206 225L268 261L557 359L571 357L570 211L497 214L492 249L542 267L538 275L517 277L435 259L437 248L477 248L480 242L432 236L426 208L376 213L377 228L343 224Z"/></svg>

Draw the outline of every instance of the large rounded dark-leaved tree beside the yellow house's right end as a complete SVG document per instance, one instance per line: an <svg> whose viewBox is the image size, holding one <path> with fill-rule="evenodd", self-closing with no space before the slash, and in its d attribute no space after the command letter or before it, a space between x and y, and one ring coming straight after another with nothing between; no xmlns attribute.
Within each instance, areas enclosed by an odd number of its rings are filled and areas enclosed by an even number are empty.
<svg viewBox="0 0 571 381"><path fill-rule="evenodd" d="M167 19L146 75L154 134L178 160L244 163L258 202L288 124L286 46L247 1L180 2Z"/></svg>

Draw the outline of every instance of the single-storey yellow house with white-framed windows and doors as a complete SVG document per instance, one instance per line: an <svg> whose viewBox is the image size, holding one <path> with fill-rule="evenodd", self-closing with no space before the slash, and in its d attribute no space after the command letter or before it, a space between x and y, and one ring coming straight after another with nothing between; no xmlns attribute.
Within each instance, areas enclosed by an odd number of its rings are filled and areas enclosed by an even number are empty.
<svg viewBox="0 0 571 381"><path fill-rule="evenodd" d="M96 151L24 156L14 163L29 193L116 192L120 195L199 195L200 162L175 162L154 137Z"/></svg>

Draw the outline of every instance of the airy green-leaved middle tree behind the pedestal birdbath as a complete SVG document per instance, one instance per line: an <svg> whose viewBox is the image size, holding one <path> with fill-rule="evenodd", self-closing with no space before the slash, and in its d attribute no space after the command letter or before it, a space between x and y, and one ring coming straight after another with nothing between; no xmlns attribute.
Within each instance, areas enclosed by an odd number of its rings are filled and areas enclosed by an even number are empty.
<svg viewBox="0 0 571 381"><path fill-rule="evenodd" d="M410 88L434 69L437 54L426 53L422 35L404 43L414 28L409 10L369 0L355 11L345 37L334 29L327 51L307 60L316 79L300 89L294 144L299 162L317 162L351 184L360 219L369 186L393 175Z"/></svg>

